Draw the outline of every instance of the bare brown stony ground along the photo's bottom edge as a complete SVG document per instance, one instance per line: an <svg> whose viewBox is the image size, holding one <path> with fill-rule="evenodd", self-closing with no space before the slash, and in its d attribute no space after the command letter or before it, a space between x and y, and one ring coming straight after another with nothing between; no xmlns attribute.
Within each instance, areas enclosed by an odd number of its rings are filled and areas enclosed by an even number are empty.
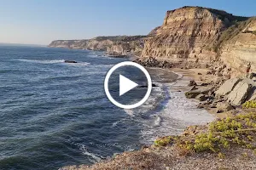
<svg viewBox="0 0 256 170"><path fill-rule="evenodd" d="M217 170L217 169L255 169L256 156L253 150L232 148L226 150L224 159L218 154L195 154L183 156L173 148L143 149L134 152L125 152L114 159L102 161L92 166L79 165L62 167L60 170ZM243 156L247 153L247 157ZM236 167L236 168L234 168Z"/></svg>

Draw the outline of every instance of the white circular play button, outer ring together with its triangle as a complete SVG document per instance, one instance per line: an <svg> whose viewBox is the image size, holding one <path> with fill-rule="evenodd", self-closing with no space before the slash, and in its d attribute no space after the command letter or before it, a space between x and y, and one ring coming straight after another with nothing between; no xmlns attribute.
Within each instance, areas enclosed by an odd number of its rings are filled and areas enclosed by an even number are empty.
<svg viewBox="0 0 256 170"><path fill-rule="evenodd" d="M135 66L140 71L143 71L143 73L147 77L147 81L148 81L148 90L147 90L145 96L143 97L143 99L138 101L136 104L132 104L132 105L120 104L118 101L113 99L113 97L109 93L109 89L108 89L108 80L109 80L110 76L112 75L113 71L117 70L119 67L127 66L127 65ZM119 96L130 91L132 88L136 88L137 86L138 86L138 84L136 82L133 82L130 79L128 79L122 75L119 75ZM113 105L116 105L123 109L134 109L140 105L143 105L143 103L148 99L148 97L151 93L151 90L152 90L152 81L151 81L150 75L148 74L148 71L142 65L139 65L139 64L131 62L131 61L124 61L117 65L113 65L113 67L108 71L107 76L105 77L104 89L105 89L105 93L107 94L108 99L113 103Z"/></svg>

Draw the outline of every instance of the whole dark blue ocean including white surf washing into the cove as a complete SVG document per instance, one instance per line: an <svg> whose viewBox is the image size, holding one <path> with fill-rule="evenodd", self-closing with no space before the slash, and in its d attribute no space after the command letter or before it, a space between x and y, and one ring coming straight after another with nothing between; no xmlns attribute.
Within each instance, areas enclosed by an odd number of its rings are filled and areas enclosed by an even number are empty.
<svg viewBox="0 0 256 170"><path fill-rule="evenodd" d="M161 69L148 69L158 87L144 105L116 107L103 83L108 70L125 60L95 51L1 45L0 169L90 165L214 119L174 88L184 85L181 75Z"/></svg>

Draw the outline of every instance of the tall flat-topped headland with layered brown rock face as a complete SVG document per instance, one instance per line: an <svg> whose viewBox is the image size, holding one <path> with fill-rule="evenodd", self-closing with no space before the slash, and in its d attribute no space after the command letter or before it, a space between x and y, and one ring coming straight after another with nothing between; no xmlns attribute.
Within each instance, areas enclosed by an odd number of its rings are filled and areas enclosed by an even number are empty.
<svg viewBox="0 0 256 170"><path fill-rule="evenodd" d="M204 65L218 59L218 42L236 17L212 8L184 7L167 11L162 26L145 41L142 57Z"/></svg>

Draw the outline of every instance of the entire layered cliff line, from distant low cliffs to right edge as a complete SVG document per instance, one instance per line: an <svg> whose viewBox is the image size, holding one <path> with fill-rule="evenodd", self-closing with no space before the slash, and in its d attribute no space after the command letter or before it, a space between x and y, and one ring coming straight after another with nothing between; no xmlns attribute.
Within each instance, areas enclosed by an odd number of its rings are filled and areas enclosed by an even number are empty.
<svg viewBox="0 0 256 170"><path fill-rule="evenodd" d="M142 56L142 60L154 57L183 68L221 64L244 73L248 62L256 71L255 20L222 10L186 6L167 11L162 26L148 36L57 40L49 47L104 50L110 55Z"/></svg>

